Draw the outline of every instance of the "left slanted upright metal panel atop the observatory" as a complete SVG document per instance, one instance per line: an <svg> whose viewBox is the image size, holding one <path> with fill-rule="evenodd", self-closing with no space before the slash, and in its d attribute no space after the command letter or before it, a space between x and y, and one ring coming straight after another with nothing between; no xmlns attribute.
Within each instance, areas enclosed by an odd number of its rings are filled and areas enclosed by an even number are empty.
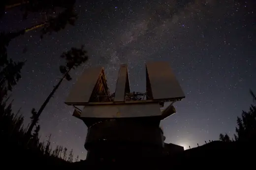
<svg viewBox="0 0 256 170"><path fill-rule="evenodd" d="M70 105L72 103L89 102L102 69L103 67L86 69L71 88L65 100L65 104Z"/></svg>

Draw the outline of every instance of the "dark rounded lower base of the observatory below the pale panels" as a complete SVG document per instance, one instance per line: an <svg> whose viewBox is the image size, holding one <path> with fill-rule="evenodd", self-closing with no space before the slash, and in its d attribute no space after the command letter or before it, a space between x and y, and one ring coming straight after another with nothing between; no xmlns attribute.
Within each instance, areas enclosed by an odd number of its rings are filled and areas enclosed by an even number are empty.
<svg viewBox="0 0 256 170"><path fill-rule="evenodd" d="M111 161L161 156L164 137L159 122L160 119L156 121L153 117L96 120L88 128L87 159Z"/></svg>

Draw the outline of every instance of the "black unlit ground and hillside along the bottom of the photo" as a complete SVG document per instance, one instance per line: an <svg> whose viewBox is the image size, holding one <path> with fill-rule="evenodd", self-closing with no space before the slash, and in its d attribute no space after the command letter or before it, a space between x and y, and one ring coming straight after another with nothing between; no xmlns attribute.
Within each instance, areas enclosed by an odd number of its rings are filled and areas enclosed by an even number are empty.
<svg viewBox="0 0 256 170"><path fill-rule="evenodd" d="M136 170L136 169L183 169L213 167L253 168L256 162L255 142L210 142L173 156L152 159L130 159L111 162L79 161L68 163L55 157L40 155L29 149L13 147L2 150L1 165L5 168L29 169L73 169L73 170ZM223 167L224 166L224 167Z"/></svg>

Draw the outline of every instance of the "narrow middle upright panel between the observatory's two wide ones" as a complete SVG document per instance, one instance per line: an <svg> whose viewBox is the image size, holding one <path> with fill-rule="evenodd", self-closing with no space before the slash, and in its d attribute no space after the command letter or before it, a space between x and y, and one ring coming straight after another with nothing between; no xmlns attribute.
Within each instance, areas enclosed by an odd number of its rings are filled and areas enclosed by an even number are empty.
<svg viewBox="0 0 256 170"><path fill-rule="evenodd" d="M115 102L125 101L125 93L129 92L129 79L127 64L121 64L117 79Z"/></svg>

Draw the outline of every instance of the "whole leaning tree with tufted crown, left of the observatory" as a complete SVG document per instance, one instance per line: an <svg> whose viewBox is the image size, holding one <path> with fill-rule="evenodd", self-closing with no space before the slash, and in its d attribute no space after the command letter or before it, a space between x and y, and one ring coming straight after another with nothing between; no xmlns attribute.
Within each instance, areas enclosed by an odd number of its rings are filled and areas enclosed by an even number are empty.
<svg viewBox="0 0 256 170"><path fill-rule="evenodd" d="M38 113L36 114L36 118L32 121L28 129L28 134L31 134L32 129L36 124L36 120L39 119L40 114L43 112L45 106L53 97L54 93L59 88L59 86L64 81L64 79L66 79L67 81L70 81L72 79L71 76L69 75L71 69L76 69L77 67L79 67L81 64L83 64L88 60L87 52L84 50L84 46L82 46L81 48L71 48L71 50L63 53L61 57L65 59L65 65L60 66L60 72L63 74L63 77L60 79L59 83L56 86L54 86L53 90L51 91L49 96L46 98L46 100L38 110Z"/></svg>

